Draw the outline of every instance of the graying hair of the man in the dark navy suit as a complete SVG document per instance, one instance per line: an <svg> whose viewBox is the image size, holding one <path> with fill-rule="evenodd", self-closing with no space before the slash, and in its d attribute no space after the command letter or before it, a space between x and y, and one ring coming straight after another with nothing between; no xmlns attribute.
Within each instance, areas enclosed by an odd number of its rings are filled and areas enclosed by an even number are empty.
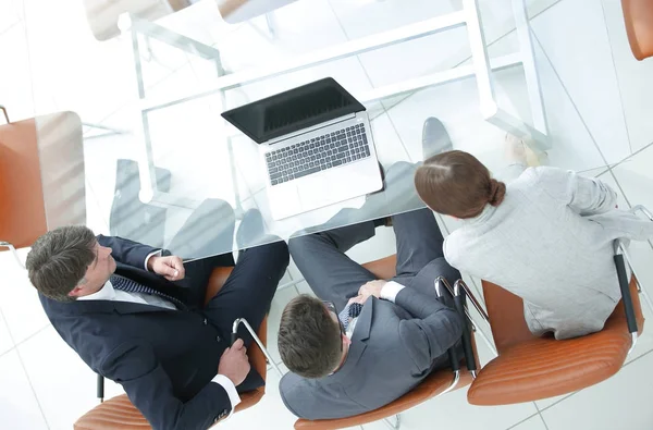
<svg viewBox="0 0 653 430"><path fill-rule="evenodd" d="M83 225L63 226L40 236L27 254L29 281L41 294L71 302L69 293L84 279L95 260L96 237Z"/></svg>

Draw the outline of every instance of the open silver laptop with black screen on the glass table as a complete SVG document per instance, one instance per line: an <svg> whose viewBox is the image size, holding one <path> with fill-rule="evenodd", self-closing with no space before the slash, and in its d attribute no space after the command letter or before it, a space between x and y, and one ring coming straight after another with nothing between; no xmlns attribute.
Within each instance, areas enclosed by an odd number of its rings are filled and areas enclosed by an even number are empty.
<svg viewBox="0 0 653 430"><path fill-rule="evenodd" d="M222 116L259 144L275 220L383 187L366 109L331 77Z"/></svg>

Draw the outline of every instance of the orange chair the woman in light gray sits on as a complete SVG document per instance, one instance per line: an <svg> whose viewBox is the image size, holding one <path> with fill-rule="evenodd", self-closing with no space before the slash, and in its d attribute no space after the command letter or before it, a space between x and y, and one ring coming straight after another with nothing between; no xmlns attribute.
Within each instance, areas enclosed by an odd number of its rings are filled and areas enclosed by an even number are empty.
<svg viewBox="0 0 653 430"><path fill-rule="evenodd" d="M623 299L604 329L563 341L534 336L523 318L522 299L482 281L498 356L485 365L471 383L467 392L469 403L532 402L581 390L615 374L634 346L644 323L638 280L633 274L628 283L623 255L615 255L615 262Z"/></svg>

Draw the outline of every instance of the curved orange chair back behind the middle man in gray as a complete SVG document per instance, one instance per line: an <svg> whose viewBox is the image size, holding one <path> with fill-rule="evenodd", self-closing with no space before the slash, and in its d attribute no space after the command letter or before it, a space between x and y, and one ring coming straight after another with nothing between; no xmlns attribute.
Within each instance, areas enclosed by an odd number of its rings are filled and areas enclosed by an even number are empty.
<svg viewBox="0 0 653 430"><path fill-rule="evenodd" d="M449 386L453 380L453 372L449 369L439 370L431 373L419 385L412 391L404 394L394 402L380 407L379 409L370 410L361 415L356 415L348 418L337 419L298 419L295 422L295 429L311 429L311 430L331 430L331 429L343 429L347 427L361 426L368 422L378 421L383 418L392 417L393 415L401 414L414 406L419 405L441 394L444 390ZM471 374L466 367L460 366L460 380L456 385L455 390L463 386L467 386L471 383Z"/></svg>

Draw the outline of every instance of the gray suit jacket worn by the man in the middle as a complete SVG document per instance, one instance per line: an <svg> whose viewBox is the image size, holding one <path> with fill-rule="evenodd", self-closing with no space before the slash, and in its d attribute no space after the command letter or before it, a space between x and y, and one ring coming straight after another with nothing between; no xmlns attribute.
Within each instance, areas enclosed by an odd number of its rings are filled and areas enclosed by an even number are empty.
<svg viewBox="0 0 653 430"><path fill-rule="evenodd" d="M322 379L286 373L281 397L296 416L343 418L377 409L447 367L446 351L458 342L458 315L435 298L405 287L395 304L370 297L356 322L343 367Z"/></svg>

